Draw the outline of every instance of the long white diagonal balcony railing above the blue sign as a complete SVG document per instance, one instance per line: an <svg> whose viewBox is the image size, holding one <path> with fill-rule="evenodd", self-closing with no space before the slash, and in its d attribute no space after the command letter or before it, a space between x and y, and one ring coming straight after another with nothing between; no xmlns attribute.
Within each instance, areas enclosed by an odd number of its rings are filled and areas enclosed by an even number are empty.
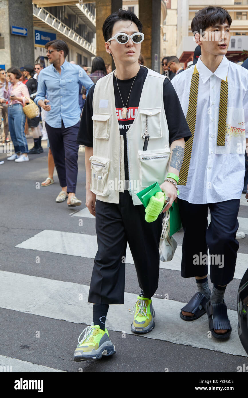
<svg viewBox="0 0 248 398"><path fill-rule="evenodd" d="M85 50L92 53L92 55L96 55L96 49L93 47L88 41L86 41L82 36L78 35L78 33L74 32L67 25L61 22L58 18L55 18L50 12L45 10L45 8L37 7L33 4L33 15L39 20L45 22L47 25L51 26L53 29L62 33L65 37L74 41L74 43L79 44Z"/></svg>

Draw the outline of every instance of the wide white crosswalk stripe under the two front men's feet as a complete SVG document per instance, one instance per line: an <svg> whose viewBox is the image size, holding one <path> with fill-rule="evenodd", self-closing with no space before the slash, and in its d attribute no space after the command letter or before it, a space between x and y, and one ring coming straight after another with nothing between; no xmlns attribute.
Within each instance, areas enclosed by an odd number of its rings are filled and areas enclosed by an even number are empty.
<svg viewBox="0 0 248 398"><path fill-rule="evenodd" d="M9 289L10 286L12 289ZM89 287L86 285L0 271L0 291L2 308L78 324L92 322L92 304L87 303ZM133 316L129 314L128 309L132 308L136 299L135 294L125 293L124 305L110 306L107 329L122 332L123 338L125 334L132 334L130 325ZM233 332L228 341L220 343L215 338L207 337L209 330L207 315L196 322L185 322L179 316L184 303L161 298L152 298L152 302L156 312L156 326L152 332L143 335L145 338L246 356L238 338L236 311L228 310ZM75 328L77 331L78 329ZM77 338L78 336L75 336L75 347Z"/></svg>

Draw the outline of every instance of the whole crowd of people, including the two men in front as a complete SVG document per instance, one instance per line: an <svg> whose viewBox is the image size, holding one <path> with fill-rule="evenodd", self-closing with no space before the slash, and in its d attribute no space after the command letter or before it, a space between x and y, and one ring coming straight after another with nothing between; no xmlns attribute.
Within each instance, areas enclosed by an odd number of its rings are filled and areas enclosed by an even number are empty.
<svg viewBox="0 0 248 398"><path fill-rule="evenodd" d="M83 338L83 332L78 338L74 361L115 353L105 321L109 304L124 302L127 242L141 288L132 309L131 330L145 334L155 326L151 297L158 287L163 214L156 203L153 222L147 222L147 209L137 197L154 180L162 191L162 207L164 195L166 210L178 203L184 230L182 277L194 277L198 290L180 317L191 321L207 312L213 337L231 334L224 294L234 277L243 188L248 199L244 186L248 72L225 57L231 22L225 8L199 10L192 32L203 30L211 36L218 26L222 37L204 41L194 33L198 47L193 64L184 70L177 57L165 57L162 75L146 68L141 55L142 23L132 11L123 9L103 23L105 49L115 62L114 72L100 57L93 60L90 74L86 66L67 62L68 46L62 40L45 45L50 65L35 65L36 80L35 70L28 65L22 72L8 69L7 76L0 70L0 98L4 106L8 101L15 149L8 160L25 162L29 153L42 151L40 119L27 121L34 140L31 151L24 131L22 107L34 98L43 111L49 142L49 177L43 185L54 182L55 164L61 185L57 202L67 199L69 206L81 205L75 195L78 145L85 146L86 206L96 217L98 252L89 291L93 321ZM219 118L215 121L216 110ZM6 120L6 112L3 115ZM6 133L4 127L4 140ZM110 188L113 181L118 184ZM211 255L225 258L225 266L211 264L212 292L208 264L193 261L197 253L207 256L208 248Z"/></svg>

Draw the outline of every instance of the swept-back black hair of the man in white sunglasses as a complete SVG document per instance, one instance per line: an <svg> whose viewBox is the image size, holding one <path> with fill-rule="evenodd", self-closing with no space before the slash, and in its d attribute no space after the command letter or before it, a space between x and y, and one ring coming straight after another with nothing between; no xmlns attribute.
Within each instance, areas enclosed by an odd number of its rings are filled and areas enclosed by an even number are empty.
<svg viewBox="0 0 248 398"><path fill-rule="evenodd" d="M103 22L102 33L105 41L112 37L113 25L117 21L131 21L137 25L138 31L142 32L143 25L135 13L125 8L120 8L119 11L113 12Z"/></svg>

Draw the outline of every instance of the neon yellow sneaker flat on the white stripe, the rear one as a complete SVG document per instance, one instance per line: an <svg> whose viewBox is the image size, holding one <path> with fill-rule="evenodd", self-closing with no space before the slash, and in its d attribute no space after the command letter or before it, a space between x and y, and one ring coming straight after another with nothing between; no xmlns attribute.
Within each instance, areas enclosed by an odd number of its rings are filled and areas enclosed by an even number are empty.
<svg viewBox="0 0 248 398"><path fill-rule="evenodd" d="M133 333L145 334L150 332L154 326L155 311L152 306L152 300L138 296L137 301L130 314L134 314L133 323L131 324L131 331Z"/></svg>

